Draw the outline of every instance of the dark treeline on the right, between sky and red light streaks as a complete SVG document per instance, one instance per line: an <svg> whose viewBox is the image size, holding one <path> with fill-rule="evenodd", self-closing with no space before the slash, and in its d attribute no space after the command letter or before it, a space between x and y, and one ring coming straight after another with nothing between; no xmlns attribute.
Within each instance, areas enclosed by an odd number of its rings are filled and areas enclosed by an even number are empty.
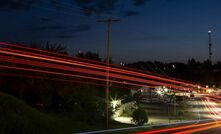
<svg viewBox="0 0 221 134"><path fill-rule="evenodd" d="M219 61L211 64L209 60L199 62L192 58L187 63L139 61L126 66L209 86L218 87L221 81L221 62Z"/></svg>

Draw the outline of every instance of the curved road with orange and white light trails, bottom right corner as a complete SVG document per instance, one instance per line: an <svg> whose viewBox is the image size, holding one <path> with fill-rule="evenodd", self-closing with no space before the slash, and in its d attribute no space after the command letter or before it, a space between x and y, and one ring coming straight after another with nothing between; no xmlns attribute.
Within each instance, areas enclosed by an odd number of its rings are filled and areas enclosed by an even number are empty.
<svg viewBox="0 0 221 134"><path fill-rule="evenodd" d="M138 132L137 134L219 134L221 133L221 97L217 95L205 95L203 104L209 111L212 121L200 122L188 125L179 125L168 128Z"/></svg>

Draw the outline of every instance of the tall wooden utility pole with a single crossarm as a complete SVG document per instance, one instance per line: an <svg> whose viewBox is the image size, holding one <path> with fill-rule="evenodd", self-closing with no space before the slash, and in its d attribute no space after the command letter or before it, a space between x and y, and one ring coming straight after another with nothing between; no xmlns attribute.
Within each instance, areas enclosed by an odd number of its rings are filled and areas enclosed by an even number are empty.
<svg viewBox="0 0 221 134"><path fill-rule="evenodd" d="M109 71L109 66L110 66L110 32L111 32L111 24L113 22L118 22L120 20L118 19L106 19L106 20L97 20L97 22L102 22L102 23L107 23L107 41L106 41L106 71L107 71L107 75L106 75L106 128L108 128L109 126L109 75L110 75L110 71Z"/></svg>

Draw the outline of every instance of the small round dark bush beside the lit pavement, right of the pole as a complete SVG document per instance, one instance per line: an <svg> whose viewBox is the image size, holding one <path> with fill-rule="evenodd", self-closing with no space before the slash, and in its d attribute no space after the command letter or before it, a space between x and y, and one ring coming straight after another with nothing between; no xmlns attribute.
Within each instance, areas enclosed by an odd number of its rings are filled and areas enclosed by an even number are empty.
<svg viewBox="0 0 221 134"><path fill-rule="evenodd" d="M139 126L142 126L144 123L148 122L146 111L141 108L134 110L132 115L132 121Z"/></svg>

